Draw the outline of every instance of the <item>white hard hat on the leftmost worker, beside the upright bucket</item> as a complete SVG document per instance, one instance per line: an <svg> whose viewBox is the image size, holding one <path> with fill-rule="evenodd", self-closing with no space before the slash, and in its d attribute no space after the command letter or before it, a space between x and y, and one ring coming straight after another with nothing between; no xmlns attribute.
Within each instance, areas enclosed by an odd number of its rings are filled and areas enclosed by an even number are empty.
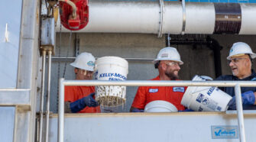
<svg viewBox="0 0 256 142"><path fill-rule="evenodd" d="M80 53L76 56L75 62L70 63L70 65L79 69L94 71L95 57L92 56L92 53Z"/></svg>

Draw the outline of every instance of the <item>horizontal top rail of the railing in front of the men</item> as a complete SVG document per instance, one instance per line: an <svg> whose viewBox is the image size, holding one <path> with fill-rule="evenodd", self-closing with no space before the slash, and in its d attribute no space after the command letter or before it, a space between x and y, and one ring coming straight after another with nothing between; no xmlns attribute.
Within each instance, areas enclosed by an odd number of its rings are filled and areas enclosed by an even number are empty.
<svg viewBox="0 0 256 142"><path fill-rule="evenodd" d="M127 81L105 81L105 80L64 80L64 86L221 86L234 87L256 87L254 81L152 81L152 80L127 80Z"/></svg>

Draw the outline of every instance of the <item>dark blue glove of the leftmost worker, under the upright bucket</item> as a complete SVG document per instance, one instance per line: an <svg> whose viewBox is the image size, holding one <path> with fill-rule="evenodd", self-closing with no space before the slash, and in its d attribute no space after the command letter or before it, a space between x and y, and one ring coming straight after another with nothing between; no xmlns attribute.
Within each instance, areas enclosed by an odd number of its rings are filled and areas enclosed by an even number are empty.
<svg viewBox="0 0 256 142"><path fill-rule="evenodd" d="M73 113L76 113L78 111L81 111L83 108L86 108L86 106L96 107L99 104L94 98L92 98L93 95L95 95L94 92L86 97L80 98L79 100L70 103L70 110Z"/></svg>

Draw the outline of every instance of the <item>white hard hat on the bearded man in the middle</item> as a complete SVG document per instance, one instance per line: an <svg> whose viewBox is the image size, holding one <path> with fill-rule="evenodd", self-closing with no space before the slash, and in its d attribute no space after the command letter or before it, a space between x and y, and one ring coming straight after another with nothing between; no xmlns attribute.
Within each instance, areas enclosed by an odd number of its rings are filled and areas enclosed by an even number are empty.
<svg viewBox="0 0 256 142"><path fill-rule="evenodd" d="M183 61L180 60L180 53L173 47L165 47L161 49L157 54L157 59L153 62L156 63L158 60L173 60L179 62L180 65L183 64Z"/></svg>

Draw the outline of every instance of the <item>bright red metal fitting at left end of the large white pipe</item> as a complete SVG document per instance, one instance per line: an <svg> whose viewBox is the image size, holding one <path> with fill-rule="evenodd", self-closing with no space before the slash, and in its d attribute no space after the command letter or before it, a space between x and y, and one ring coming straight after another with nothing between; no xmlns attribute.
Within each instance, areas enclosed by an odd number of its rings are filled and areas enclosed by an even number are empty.
<svg viewBox="0 0 256 142"><path fill-rule="evenodd" d="M70 0L76 5L76 17L73 8L66 2L60 2L60 22L71 31L78 31L86 27L89 21L88 0Z"/></svg>

